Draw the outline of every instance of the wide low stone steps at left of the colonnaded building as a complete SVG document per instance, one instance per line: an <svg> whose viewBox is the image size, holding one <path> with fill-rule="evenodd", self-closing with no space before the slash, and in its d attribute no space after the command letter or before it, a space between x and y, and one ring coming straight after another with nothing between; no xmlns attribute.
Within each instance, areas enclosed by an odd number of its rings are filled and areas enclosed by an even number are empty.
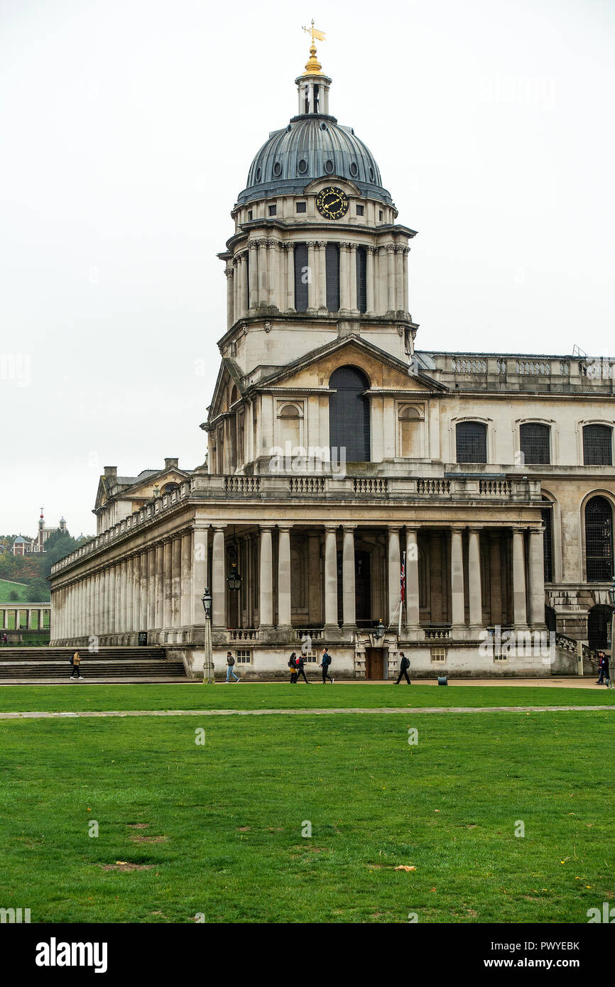
<svg viewBox="0 0 615 987"><path fill-rule="evenodd" d="M74 647L0 647L0 684L68 682ZM188 682L182 661L164 647L79 648L87 682Z"/></svg>

